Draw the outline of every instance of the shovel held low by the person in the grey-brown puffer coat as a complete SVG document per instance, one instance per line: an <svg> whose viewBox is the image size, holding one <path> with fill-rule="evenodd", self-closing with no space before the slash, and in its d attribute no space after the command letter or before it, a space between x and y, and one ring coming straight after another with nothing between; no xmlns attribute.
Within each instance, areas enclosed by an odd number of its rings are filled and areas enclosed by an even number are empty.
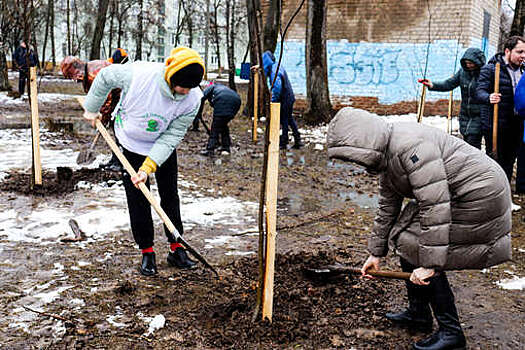
<svg viewBox="0 0 525 350"><path fill-rule="evenodd" d="M305 268L303 272L306 277L317 281L327 281L338 277L343 277L345 275L348 275L350 277L352 277L352 275L361 276L361 269L341 264L326 265L317 268ZM367 273L375 277L393 278L399 280L410 279L409 272L369 269Z"/></svg>

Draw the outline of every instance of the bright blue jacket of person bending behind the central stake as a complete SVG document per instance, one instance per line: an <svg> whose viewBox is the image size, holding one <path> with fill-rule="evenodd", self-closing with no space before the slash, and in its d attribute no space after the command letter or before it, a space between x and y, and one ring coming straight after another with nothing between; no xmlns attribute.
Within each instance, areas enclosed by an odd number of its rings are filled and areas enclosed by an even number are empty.
<svg viewBox="0 0 525 350"><path fill-rule="evenodd" d="M275 56L270 51L263 53L263 68L264 74L271 84L277 71L277 62L275 62ZM293 104L295 102L292 84L282 64L279 67L277 79L272 89L272 102L280 102L281 104Z"/></svg>

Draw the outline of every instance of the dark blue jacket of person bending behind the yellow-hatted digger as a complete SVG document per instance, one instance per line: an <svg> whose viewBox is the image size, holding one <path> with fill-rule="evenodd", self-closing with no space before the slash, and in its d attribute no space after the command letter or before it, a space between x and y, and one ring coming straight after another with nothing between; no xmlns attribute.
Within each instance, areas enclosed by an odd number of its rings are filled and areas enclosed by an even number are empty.
<svg viewBox="0 0 525 350"><path fill-rule="evenodd" d="M216 117L234 117L241 107L239 94L222 84L212 84L203 91L204 100L210 101Z"/></svg>

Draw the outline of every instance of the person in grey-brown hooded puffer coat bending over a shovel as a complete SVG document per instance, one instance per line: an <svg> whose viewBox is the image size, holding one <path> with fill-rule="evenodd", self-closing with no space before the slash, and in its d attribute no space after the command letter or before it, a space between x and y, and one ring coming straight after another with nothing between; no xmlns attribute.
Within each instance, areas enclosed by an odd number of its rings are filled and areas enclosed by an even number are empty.
<svg viewBox="0 0 525 350"><path fill-rule="evenodd" d="M401 258L409 307L388 319L439 331L415 349L465 346L445 270L481 269L511 258L511 197L505 173L480 150L436 128L387 123L344 108L330 122L328 155L380 174L379 209L363 265L379 268L389 245ZM402 210L403 199L412 199Z"/></svg>

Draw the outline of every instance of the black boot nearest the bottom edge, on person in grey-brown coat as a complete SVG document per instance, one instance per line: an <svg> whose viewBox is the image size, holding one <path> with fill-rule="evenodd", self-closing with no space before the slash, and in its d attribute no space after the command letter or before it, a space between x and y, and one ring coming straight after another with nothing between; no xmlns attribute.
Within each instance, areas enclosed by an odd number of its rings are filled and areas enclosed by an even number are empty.
<svg viewBox="0 0 525 350"><path fill-rule="evenodd" d="M454 294L448 284L447 276L441 272L431 278L430 305L439 325L439 330L430 337L413 345L416 350L465 349L466 339L459 323L454 304Z"/></svg>

